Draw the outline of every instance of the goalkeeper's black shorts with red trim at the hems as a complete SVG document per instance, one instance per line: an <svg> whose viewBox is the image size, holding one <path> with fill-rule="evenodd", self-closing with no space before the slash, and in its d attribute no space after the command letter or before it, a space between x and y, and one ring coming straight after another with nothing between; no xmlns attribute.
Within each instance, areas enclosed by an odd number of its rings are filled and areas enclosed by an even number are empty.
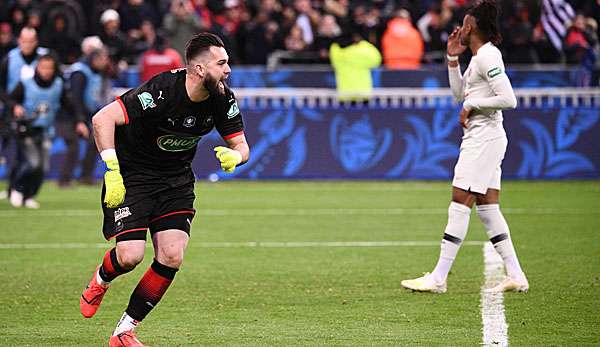
<svg viewBox="0 0 600 347"><path fill-rule="evenodd" d="M116 208L104 204L106 186L102 187L102 210L104 238L146 240L150 230L177 229L188 235L196 210L194 209L194 181L186 177L150 178L145 175L129 175L123 178L125 201Z"/></svg>

